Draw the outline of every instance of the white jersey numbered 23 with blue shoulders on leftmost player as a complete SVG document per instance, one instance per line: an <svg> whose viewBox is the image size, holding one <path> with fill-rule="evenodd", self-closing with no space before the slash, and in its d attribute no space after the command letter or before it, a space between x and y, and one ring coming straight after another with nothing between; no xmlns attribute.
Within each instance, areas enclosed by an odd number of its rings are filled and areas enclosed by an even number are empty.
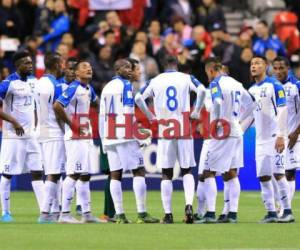
<svg viewBox="0 0 300 250"><path fill-rule="evenodd" d="M14 117L24 128L22 137L16 135L12 124L3 121L3 138L30 138L37 134L36 119L36 78L21 79L17 73L8 76L0 84L0 98L3 100L3 112Z"/></svg>

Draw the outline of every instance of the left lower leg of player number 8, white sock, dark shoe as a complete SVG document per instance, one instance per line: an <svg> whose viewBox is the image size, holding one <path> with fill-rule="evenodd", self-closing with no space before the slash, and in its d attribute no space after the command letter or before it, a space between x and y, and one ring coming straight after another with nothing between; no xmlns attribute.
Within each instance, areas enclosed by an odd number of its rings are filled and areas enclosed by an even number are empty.
<svg viewBox="0 0 300 250"><path fill-rule="evenodd" d="M162 169L162 181L160 184L161 189L161 200L165 216L161 220L161 223L171 224L173 223L172 214L172 193L173 193L173 168Z"/></svg>

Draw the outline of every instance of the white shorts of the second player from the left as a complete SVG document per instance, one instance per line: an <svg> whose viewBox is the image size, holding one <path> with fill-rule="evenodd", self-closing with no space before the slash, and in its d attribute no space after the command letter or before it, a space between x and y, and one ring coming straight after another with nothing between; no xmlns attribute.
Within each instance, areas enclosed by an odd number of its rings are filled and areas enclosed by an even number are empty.
<svg viewBox="0 0 300 250"><path fill-rule="evenodd" d="M41 142L45 175L65 172L66 149L64 140Z"/></svg>

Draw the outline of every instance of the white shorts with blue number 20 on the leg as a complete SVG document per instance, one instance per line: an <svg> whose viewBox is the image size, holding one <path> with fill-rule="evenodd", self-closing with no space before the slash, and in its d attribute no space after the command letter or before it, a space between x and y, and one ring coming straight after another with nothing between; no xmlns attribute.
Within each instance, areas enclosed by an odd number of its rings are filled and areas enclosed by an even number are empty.
<svg viewBox="0 0 300 250"><path fill-rule="evenodd" d="M286 150L278 154L275 150L275 141L256 144L255 161L257 177L285 174Z"/></svg>

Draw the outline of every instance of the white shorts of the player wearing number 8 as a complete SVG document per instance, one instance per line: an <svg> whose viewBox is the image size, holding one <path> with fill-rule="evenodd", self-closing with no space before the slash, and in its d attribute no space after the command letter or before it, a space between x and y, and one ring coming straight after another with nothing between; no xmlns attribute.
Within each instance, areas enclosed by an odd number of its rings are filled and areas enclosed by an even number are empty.
<svg viewBox="0 0 300 250"><path fill-rule="evenodd" d="M176 160L181 168L195 167L194 141L192 139L159 139L156 159L158 168L174 168Z"/></svg>

